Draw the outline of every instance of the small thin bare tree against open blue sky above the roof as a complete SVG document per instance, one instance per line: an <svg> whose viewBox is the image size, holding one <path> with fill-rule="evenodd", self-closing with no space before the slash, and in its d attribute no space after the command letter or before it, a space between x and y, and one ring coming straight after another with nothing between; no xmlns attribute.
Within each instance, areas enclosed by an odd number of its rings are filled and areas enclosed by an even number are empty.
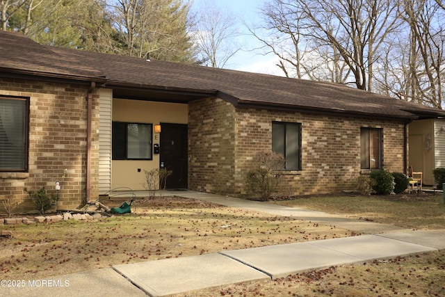
<svg viewBox="0 0 445 297"><path fill-rule="evenodd" d="M193 36L203 63L223 68L241 50L236 42L240 35L233 13L223 10L214 1L206 2L197 12Z"/></svg>

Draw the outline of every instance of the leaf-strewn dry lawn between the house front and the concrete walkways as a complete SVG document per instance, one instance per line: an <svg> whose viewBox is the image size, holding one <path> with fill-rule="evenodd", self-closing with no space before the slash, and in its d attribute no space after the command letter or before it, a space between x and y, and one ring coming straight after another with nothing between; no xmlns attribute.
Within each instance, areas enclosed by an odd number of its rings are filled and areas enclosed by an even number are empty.
<svg viewBox="0 0 445 297"><path fill-rule="evenodd" d="M185 198L140 200L132 210L88 222L0 226L13 232L13 238L0 239L3 278L31 280L115 264L351 235L333 226Z"/></svg>

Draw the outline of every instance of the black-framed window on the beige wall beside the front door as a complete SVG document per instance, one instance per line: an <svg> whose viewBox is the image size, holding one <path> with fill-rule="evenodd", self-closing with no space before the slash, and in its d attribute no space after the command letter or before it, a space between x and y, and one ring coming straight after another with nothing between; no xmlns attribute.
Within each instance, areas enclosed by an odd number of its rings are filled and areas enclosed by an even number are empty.
<svg viewBox="0 0 445 297"><path fill-rule="evenodd" d="M113 122L113 160L152 160L152 124Z"/></svg>

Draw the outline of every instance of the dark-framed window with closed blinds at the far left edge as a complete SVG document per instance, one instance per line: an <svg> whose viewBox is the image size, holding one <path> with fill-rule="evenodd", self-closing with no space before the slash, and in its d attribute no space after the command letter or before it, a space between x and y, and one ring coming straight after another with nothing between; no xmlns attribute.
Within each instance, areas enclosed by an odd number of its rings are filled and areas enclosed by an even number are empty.
<svg viewBox="0 0 445 297"><path fill-rule="evenodd" d="M0 96L0 171L28 170L29 98Z"/></svg>

